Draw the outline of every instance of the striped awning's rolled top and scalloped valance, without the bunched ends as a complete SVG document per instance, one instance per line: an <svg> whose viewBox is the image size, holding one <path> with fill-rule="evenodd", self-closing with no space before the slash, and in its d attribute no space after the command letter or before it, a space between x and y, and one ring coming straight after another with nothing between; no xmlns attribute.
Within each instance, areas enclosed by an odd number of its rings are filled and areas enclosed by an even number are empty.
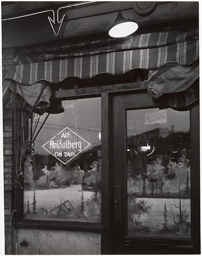
<svg viewBox="0 0 202 256"><path fill-rule="evenodd" d="M193 25L159 30L26 50L14 58L5 81L29 86L38 81L58 83L69 76L89 79L100 73L120 75L136 68L155 70L170 62L189 65L199 58L199 31ZM12 90L12 86L9 88Z"/></svg>

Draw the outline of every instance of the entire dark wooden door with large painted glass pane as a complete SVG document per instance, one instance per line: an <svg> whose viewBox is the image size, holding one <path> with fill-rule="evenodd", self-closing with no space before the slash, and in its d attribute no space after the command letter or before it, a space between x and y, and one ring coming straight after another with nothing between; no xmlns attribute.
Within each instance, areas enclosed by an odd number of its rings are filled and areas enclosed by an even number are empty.
<svg viewBox="0 0 202 256"><path fill-rule="evenodd" d="M190 252L190 111L147 93L114 96L112 110L113 254Z"/></svg>

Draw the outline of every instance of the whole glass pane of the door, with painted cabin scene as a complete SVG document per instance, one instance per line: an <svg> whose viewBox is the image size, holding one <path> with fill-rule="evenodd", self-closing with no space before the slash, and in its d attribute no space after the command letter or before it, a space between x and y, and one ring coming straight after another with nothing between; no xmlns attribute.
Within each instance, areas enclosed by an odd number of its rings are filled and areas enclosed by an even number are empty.
<svg viewBox="0 0 202 256"><path fill-rule="evenodd" d="M190 238L189 111L127 111L127 234Z"/></svg>

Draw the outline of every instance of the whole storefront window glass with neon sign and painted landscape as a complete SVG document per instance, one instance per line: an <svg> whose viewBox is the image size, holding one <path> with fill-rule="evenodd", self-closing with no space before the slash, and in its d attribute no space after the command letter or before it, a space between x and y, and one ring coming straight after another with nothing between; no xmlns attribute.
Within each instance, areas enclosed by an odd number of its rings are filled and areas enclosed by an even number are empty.
<svg viewBox="0 0 202 256"><path fill-rule="evenodd" d="M26 156L24 218L101 222L101 99L62 105L64 112L48 116L35 152ZM37 116L33 127L45 118Z"/></svg>

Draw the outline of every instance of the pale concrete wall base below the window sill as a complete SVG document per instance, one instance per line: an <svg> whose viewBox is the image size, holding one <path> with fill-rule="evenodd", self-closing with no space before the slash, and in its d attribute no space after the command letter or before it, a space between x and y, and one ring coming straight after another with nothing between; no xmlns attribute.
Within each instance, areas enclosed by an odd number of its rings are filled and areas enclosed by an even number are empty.
<svg viewBox="0 0 202 256"><path fill-rule="evenodd" d="M27 228L16 231L16 254L101 254L99 233ZM27 246L20 245L23 241Z"/></svg>

